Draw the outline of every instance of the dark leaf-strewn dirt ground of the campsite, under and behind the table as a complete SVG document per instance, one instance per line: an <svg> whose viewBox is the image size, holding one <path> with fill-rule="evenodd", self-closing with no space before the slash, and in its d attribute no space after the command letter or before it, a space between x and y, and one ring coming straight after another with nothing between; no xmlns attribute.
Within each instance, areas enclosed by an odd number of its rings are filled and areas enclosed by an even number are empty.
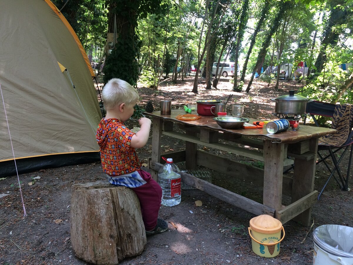
<svg viewBox="0 0 353 265"><path fill-rule="evenodd" d="M194 103L198 99L220 99L225 101L233 94L230 103L245 105L244 117L274 119L275 104L271 98L287 94L290 89L299 89L301 84L281 82L280 89L267 87L255 81L249 94L232 92L230 78L223 78L218 89L206 90L204 81L199 82L199 93L191 92L193 77L184 82L171 84L163 82L159 90L139 87L141 106L152 100L155 110L164 99L172 100L172 108ZM247 83L247 82L246 82ZM244 85L245 90L246 84ZM230 112L228 104L228 113ZM137 126L136 120L127 125ZM184 143L163 136L162 152L180 151ZM202 146L199 146L202 148ZM214 149L205 152L218 152L219 155L253 163L246 158L231 155ZM138 149L142 163L151 154L151 137L147 145ZM347 158L342 168L347 169ZM184 163L178 163L184 169ZM200 170L207 170L199 168ZM148 170L148 169L145 169ZM212 183L261 202L262 189L251 183L241 182L229 176L209 170ZM345 172L345 171L343 171ZM288 173L291 174L291 173ZM316 170L315 188L321 190L328 176L324 165ZM33 181L33 177L40 179ZM0 180L0 264L86 264L74 256L70 238L71 186L76 183L105 180L99 161L54 169L42 169L19 175L22 182L22 195L18 188L17 176ZM29 185L32 183L32 185ZM23 196L26 217L21 196ZM202 206L195 206L201 200ZM289 198L283 196L283 205ZM334 179L322 195L322 199L312 209L312 228L293 221L284 225L286 236L281 243L280 254L275 258L258 257L252 252L251 240L247 233L249 220L253 214L229 205L202 191L182 190L181 203L174 207L160 209L160 216L169 222L169 229L163 234L149 236L144 252L128 258L120 264L312 264L312 231L323 224L353 226L353 199L351 192L341 191ZM174 224L174 225L173 225Z"/></svg>

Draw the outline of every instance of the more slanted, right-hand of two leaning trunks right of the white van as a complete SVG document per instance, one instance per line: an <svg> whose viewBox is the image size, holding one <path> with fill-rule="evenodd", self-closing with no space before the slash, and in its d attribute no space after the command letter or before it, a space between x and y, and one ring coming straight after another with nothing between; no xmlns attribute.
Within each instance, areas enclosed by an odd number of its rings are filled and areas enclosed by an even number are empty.
<svg viewBox="0 0 353 265"><path fill-rule="evenodd" d="M269 30L269 33L265 39L265 41L263 42L262 44L262 48L261 50L259 51L259 54L257 56L257 62L256 62L256 65L254 67L254 70L252 72L252 75L251 75L251 78L250 78L250 81L249 81L249 84L247 85L247 88L246 88L246 92L249 93L250 91L250 87L251 87L251 84L252 84L252 81L254 80L254 75L255 75L255 71L256 69L258 68L258 66L263 62L264 58L265 58L265 55L266 55L266 50L267 50L267 47L270 43L270 40L271 40L271 37L272 35L275 33L275 31L277 30L280 22L281 22L281 19L284 15L284 12L290 8L292 8L292 5L293 3L291 1L289 2L284 2L282 1L280 3L280 8L279 8L279 11L278 13L276 14L276 17L272 23L272 27L270 28Z"/></svg>

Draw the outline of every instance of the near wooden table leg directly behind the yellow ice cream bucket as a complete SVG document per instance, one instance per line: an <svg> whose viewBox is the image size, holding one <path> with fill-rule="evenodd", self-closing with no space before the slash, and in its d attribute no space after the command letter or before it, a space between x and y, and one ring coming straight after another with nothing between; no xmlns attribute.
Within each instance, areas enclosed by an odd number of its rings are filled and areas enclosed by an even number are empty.
<svg viewBox="0 0 353 265"><path fill-rule="evenodd" d="M283 181L283 143L264 141L263 204L281 210Z"/></svg>

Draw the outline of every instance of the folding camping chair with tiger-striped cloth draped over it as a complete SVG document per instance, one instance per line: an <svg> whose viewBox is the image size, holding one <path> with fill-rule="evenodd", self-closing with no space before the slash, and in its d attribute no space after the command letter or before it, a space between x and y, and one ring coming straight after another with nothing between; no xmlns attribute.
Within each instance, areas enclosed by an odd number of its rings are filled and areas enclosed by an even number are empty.
<svg viewBox="0 0 353 265"><path fill-rule="evenodd" d="M345 104L330 104L320 101L312 101L307 103L306 112L313 117L315 124L318 126L317 120L314 115L332 117L332 126L331 128L336 129L338 132L333 135L325 135L319 138L318 144L318 156L319 160L316 164L323 162L325 166L330 171L330 176L328 177L324 187L321 189L321 192L318 195L318 200L321 199L321 194L326 188L331 177L334 177L336 182L339 184L342 190L348 189L348 178L351 168L352 161L352 144L353 144L353 106ZM345 156L348 147L351 147L349 158L348 158L348 169L347 175L344 177L341 173L340 162ZM343 153L339 155L337 152L343 149ZM323 156L322 151L328 151L329 154ZM339 158L337 160L337 158ZM334 168L331 169L327 163L327 159L331 159L334 163ZM335 172L338 175L335 176Z"/></svg>

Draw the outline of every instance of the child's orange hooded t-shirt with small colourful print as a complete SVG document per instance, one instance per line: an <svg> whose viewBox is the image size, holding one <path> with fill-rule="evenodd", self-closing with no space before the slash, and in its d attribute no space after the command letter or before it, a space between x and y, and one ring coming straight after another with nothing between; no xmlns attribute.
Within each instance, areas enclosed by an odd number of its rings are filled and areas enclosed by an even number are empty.
<svg viewBox="0 0 353 265"><path fill-rule="evenodd" d="M109 176L119 176L141 168L135 148L130 147L134 135L118 119L102 119L96 139L101 151L101 163Z"/></svg>

